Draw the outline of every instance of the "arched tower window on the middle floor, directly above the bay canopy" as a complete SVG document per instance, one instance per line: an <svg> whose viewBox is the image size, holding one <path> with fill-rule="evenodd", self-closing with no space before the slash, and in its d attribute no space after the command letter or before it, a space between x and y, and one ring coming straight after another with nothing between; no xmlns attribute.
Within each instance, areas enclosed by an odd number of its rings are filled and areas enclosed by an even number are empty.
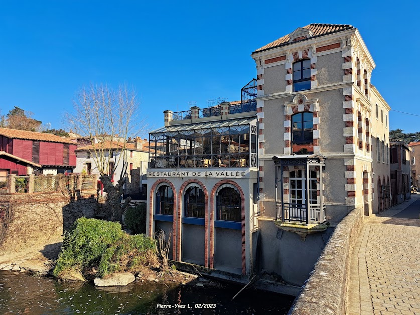
<svg viewBox="0 0 420 315"><path fill-rule="evenodd" d="M314 152L314 114L297 113L292 116L292 149L295 154Z"/></svg>

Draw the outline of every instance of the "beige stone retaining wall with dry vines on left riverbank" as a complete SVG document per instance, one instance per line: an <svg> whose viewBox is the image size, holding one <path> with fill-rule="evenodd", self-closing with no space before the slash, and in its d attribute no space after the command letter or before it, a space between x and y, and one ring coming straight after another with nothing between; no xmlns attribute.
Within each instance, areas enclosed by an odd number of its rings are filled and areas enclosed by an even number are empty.
<svg viewBox="0 0 420 315"><path fill-rule="evenodd" d="M11 211L11 222L2 229L2 251L17 251L53 236L62 235L82 216L92 218L96 191L0 195L2 208Z"/></svg>

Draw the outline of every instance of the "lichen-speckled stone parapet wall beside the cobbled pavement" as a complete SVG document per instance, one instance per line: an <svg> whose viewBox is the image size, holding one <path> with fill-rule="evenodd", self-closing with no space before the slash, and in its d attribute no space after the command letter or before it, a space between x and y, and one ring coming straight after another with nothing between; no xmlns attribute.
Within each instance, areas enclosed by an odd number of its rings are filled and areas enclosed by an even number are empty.
<svg viewBox="0 0 420 315"><path fill-rule="evenodd" d="M350 258L363 218L363 209L356 208L337 225L289 314L348 313Z"/></svg>

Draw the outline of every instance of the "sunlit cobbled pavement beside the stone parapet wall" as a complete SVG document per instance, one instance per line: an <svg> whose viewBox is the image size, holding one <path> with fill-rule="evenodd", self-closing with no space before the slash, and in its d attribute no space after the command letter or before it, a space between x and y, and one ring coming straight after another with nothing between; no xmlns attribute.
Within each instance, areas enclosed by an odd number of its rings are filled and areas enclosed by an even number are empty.
<svg viewBox="0 0 420 315"><path fill-rule="evenodd" d="M420 194L365 221L351 256L350 315L420 315L420 219L413 213L420 214Z"/></svg>

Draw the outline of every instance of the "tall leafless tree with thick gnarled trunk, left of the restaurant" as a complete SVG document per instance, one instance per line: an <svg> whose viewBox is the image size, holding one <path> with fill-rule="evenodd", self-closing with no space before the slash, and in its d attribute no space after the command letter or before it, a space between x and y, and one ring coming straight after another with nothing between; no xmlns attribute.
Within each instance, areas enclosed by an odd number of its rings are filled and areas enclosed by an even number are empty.
<svg viewBox="0 0 420 315"><path fill-rule="evenodd" d="M127 138L145 133L146 119L139 118L139 102L133 88L126 85L113 90L106 85L82 88L74 101L74 113L67 115L71 127L82 136L100 174L99 179L107 193L111 220L120 221L130 200L123 206L119 198L123 193L124 174L127 170ZM110 164L114 151L113 164ZM116 185L111 182L117 165L122 164Z"/></svg>

